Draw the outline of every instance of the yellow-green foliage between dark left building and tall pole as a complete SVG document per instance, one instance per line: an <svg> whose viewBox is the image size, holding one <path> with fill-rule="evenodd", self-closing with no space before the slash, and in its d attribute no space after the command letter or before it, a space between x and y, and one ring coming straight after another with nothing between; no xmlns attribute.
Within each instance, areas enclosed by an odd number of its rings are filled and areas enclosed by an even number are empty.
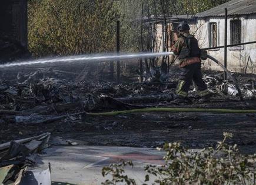
<svg viewBox="0 0 256 185"><path fill-rule="evenodd" d="M114 50L114 1L29 2L29 50L34 55L71 55Z"/></svg>

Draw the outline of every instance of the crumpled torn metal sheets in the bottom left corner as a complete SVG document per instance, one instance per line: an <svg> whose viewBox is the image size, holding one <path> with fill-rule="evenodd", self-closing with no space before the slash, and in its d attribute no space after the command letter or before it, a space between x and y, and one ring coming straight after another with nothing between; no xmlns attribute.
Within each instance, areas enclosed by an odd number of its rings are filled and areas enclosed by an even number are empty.
<svg viewBox="0 0 256 185"><path fill-rule="evenodd" d="M38 153L48 147L50 133L0 144L0 183L51 184L51 167Z"/></svg>

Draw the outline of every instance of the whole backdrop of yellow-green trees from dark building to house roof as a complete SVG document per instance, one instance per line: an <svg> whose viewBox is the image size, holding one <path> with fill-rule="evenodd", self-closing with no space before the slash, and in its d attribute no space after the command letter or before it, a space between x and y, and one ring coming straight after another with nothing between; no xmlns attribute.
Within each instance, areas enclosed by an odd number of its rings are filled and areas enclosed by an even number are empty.
<svg viewBox="0 0 256 185"><path fill-rule="evenodd" d="M36 56L114 52L121 21L122 51L152 51L143 17L196 14L227 0L29 0L29 51Z"/></svg>

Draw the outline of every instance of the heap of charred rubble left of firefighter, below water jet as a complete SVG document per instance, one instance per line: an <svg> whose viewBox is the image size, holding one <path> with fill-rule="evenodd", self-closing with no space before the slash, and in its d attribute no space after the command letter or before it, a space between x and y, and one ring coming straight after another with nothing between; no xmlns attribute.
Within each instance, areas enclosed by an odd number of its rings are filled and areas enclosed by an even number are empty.
<svg viewBox="0 0 256 185"><path fill-rule="evenodd" d="M29 75L18 72L16 79L0 80L1 122L48 123L88 111L128 109L129 103L159 101L164 90L175 83L76 82L77 73L38 69ZM4 75L2 75L4 76ZM139 97L149 96L141 102ZM122 102L117 97L127 97ZM132 97L137 97L134 101ZM131 98L131 101L129 101ZM171 97L172 98L172 97ZM147 102L148 99L148 102ZM145 101L146 100L146 101Z"/></svg>

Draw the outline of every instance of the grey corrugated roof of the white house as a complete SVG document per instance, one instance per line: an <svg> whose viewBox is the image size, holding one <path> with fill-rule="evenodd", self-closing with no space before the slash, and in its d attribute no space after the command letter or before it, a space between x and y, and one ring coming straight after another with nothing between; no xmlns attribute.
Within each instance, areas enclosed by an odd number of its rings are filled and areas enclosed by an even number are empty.
<svg viewBox="0 0 256 185"><path fill-rule="evenodd" d="M256 14L256 0L232 0L220 6L196 14L198 18L207 16L224 16L224 9L228 9L228 15Z"/></svg>

